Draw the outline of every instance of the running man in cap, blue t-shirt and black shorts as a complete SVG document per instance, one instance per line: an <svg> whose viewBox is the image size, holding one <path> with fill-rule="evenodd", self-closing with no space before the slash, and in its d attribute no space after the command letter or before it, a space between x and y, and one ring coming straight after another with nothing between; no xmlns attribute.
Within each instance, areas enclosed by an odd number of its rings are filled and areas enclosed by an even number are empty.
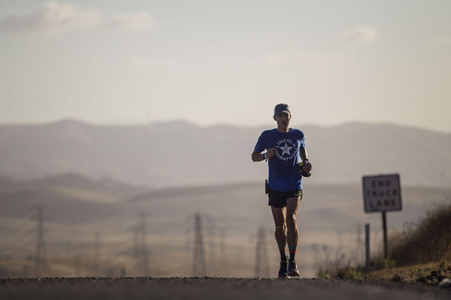
<svg viewBox="0 0 451 300"><path fill-rule="evenodd" d="M292 114L288 105L277 104L273 118L277 128L261 133L252 161L268 161L268 205L273 213L275 240L280 251L278 278L286 278L299 276L294 259L299 238L296 213L302 199L301 172L309 176L312 165L308 162L303 132L289 127ZM285 252L287 244L289 257Z"/></svg>

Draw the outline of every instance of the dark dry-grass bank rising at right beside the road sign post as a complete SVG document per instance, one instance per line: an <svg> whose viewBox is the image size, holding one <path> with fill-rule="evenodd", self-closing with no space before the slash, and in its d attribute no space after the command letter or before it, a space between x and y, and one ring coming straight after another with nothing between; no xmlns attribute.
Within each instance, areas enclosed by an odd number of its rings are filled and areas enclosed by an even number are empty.
<svg viewBox="0 0 451 300"><path fill-rule="evenodd" d="M435 284L451 275L451 205L443 205L427 212L417 224L406 226L392 235L388 259L379 253L370 263L370 271L363 267L336 268L339 278L367 279L379 282L421 281Z"/></svg>

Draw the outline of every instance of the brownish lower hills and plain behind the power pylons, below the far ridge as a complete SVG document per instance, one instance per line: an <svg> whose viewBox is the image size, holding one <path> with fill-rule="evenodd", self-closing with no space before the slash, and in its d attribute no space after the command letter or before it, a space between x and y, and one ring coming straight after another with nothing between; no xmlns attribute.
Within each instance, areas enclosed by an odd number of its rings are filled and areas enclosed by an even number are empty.
<svg viewBox="0 0 451 300"><path fill-rule="evenodd" d="M434 205L449 203L449 196L450 189L403 186L403 211L388 214L389 229L400 229ZM74 274L74 259L80 255L85 257L85 269L90 270L86 259L94 253L96 233L101 233L104 268L126 264L127 270L133 272L136 266L134 245L141 218L146 220L146 240L152 254L151 274L190 275L185 266L192 257L188 242L192 238L195 213L202 214L204 220L207 257L219 257L224 250L228 257L224 266L231 270L237 264L233 272L221 268L211 275L224 275L222 272L236 275L238 270L242 272L240 276L252 276L259 226L267 230L268 250L273 257L271 264L274 264L271 268L277 271L279 257L267 203L261 182L148 190L126 186L124 191L74 174L33 182L15 181L13 189L11 186L0 189L0 262L4 268L8 263L8 269L18 270L17 276L24 274L20 266L30 265L27 257L36 250L37 205L42 205L53 276ZM298 213L303 273L313 275L315 272L313 245L328 245L351 253L355 250L356 233L366 223L371 224L372 247L376 249L381 239L381 217L378 213L363 212L359 183L306 183ZM218 248L220 243L221 248ZM242 254L240 262L235 262L237 251ZM64 269L59 268L63 257ZM11 258L21 261L20 264ZM243 262L247 268L242 267Z"/></svg>

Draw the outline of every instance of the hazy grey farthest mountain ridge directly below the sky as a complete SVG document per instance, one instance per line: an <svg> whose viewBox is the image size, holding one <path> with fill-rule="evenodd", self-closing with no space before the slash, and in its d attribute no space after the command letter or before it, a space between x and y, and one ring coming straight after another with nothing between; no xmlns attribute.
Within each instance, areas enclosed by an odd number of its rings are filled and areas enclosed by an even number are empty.
<svg viewBox="0 0 451 300"><path fill-rule="evenodd" d="M399 172L402 184L451 184L451 134L366 123L293 127L306 133L313 183ZM0 125L0 175L38 179L75 172L156 187L261 181L266 164L252 163L250 155L265 129L183 121Z"/></svg>

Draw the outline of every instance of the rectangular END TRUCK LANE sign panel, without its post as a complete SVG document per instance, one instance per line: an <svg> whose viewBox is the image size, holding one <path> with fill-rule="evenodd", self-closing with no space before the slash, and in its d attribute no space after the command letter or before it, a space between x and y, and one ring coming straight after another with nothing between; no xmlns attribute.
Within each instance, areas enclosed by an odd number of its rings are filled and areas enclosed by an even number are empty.
<svg viewBox="0 0 451 300"><path fill-rule="evenodd" d="M362 177L365 212L402 210L399 174Z"/></svg>

